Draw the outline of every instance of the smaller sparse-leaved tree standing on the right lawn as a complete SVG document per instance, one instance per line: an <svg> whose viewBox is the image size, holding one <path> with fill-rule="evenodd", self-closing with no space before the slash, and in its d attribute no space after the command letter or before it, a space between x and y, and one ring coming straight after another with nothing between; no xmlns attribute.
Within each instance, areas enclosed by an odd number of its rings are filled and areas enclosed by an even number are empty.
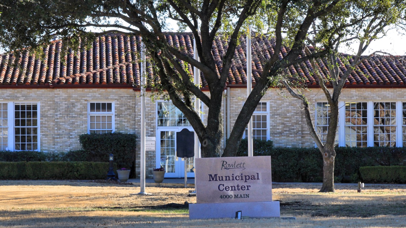
<svg viewBox="0 0 406 228"><path fill-rule="evenodd" d="M357 70L356 67L362 60L368 59L376 53L382 53L374 52L368 56L361 56L371 41L383 36L388 28L404 25L404 3L396 1L369 1L367 4L365 3L366 2L356 3L359 4L359 8L366 7L367 10L365 11L359 11L357 8L348 9L347 12L350 13L348 16L356 15L352 17L351 24L348 24L346 18L337 18L334 21L332 29L341 30L342 27L346 28L342 30L342 32L337 33L335 37L328 38L330 39L328 44L319 42L320 39L325 39L324 34L319 34L318 32L320 31L320 26L323 26L323 22L320 24L313 24L313 30L310 32L309 37L307 37L308 42L314 47L317 47L317 44L320 43L322 45L319 45L319 47L326 47L326 45L329 45L330 49L330 52L324 56L324 58L318 60L313 59L310 61L311 75L317 80L321 90L324 92L330 110L328 113L328 131L325 139L322 140L320 138L320 134L317 133L314 127L311 117L312 105L309 103L309 97L306 97L304 93L302 93L303 88L301 86L292 85L291 81L287 81L286 78L282 80L283 85L287 88L288 92L294 98L302 101L302 112L309 128L310 135L323 157L323 185L320 192L334 191L334 162L336 157L335 144L339 114L339 99L346 80L353 71ZM382 6L382 4L384 5ZM358 49L354 55L348 56L339 52L340 46L342 47L353 42L358 45ZM304 51L310 53L308 48L305 48ZM340 63L339 61L343 61L343 63ZM320 63L326 67L329 75L322 76L320 71L314 70L320 67Z"/></svg>

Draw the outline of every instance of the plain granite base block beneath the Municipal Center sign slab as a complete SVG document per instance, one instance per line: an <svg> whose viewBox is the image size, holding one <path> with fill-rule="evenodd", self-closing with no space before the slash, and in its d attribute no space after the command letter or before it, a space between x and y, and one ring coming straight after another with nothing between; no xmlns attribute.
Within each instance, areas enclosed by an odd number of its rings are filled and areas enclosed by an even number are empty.
<svg viewBox="0 0 406 228"><path fill-rule="evenodd" d="M281 217L279 201L270 201L189 204L189 219L235 218L238 211L242 217Z"/></svg>

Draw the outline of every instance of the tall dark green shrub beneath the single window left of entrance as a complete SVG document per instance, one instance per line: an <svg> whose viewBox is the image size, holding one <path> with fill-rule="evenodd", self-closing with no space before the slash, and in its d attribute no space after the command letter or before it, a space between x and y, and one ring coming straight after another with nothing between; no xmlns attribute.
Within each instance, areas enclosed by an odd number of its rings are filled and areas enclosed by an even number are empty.
<svg viewBox="0 0 406 228"><path fill-rule="evenodd" d="M110 154L114 155L114 162L119 168L130 168L130 177L134 177L136 138L134 134L105 133L83 134L79 136L82 145L82 155L86 161L108 161Z"/></svg>

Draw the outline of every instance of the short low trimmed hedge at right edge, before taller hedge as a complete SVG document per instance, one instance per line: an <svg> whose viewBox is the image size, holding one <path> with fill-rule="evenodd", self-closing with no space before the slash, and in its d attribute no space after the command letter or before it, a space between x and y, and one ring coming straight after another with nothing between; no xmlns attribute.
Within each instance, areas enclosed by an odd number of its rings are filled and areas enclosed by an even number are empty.
<svg viewBox="0 0 406 228"><path fill-rule="evenodd" d="M365 166L359 172L366 183L406 183L406 166Z"/></svg>

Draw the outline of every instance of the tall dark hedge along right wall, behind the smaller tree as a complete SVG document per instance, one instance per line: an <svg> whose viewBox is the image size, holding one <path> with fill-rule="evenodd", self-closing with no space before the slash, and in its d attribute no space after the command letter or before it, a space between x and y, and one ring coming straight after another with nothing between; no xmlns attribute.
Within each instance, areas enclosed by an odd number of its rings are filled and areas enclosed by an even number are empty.
<svg viewBox="0 0 406 228"><path fill-rule="evenodd" d="M247 140L242 140L237 156L247 156ZM255 141L254 156L272 157L272 180L277 182L321 182L323 159L318 148L272 147L272 141ZM266 146L272 145L272 146ZM335 182L361 180L361 166L399 165L406 157L404 147L336 147Z"/></svg>

